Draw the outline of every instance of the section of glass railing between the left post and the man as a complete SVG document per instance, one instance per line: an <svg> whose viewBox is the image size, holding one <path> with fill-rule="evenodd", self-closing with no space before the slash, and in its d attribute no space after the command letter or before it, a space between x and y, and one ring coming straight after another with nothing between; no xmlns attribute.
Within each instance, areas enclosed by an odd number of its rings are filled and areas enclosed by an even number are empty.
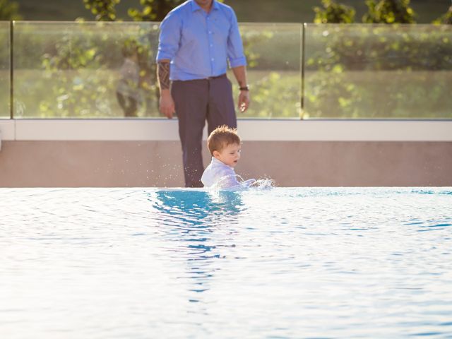
<svg viewBox="0 0 452 339"><path fill-rule="evenodd" d="M156 23L14 23L14 117L160 116L157 37Z"/></svg>

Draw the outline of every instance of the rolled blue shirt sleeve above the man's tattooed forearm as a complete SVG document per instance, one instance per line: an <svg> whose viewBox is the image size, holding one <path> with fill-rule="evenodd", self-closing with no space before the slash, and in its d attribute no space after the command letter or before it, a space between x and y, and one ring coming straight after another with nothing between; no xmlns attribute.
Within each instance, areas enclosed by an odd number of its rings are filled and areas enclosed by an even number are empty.
<svg viewBox="0 0 452 339"><path fill-rule="evenodd" d="M177 13L169 13L160 24L160 37L156 61L172 60L179 49L181 19Z"/></svg>

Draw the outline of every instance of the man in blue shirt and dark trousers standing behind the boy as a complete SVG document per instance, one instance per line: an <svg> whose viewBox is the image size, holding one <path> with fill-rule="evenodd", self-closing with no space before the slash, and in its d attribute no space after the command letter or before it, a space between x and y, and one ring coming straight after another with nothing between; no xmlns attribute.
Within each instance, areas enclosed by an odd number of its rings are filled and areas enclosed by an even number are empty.
<svg viewBox="0 0 452 339"><path fill-rule="evenodd" d="M227 61L239 83L239 109L249 106L246 59L237 17L216 0L189 0L174 8L160 25L157 78L160 112L177 112L186 187L202 187L203 128L237 127ZM171 86L170 86L171 82Z"/></svg>

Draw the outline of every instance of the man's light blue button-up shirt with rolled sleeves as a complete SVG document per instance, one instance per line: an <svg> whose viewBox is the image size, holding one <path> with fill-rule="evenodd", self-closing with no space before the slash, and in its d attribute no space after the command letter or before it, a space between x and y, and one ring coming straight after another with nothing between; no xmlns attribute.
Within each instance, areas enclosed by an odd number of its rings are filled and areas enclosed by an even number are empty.
<svg viewBox="0 0 452 339"><path fill-rule="evenodd" d="M160 24L157 61L171 61L170 80L220 76L231 67L246 66L234 10L213 0L209 13L196 1L177 6Z"/></svg>

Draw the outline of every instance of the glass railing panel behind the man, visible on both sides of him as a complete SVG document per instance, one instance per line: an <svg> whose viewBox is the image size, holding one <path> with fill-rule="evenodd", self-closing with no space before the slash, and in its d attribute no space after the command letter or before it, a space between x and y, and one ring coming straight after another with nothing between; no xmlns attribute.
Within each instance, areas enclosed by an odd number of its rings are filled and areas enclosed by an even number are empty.
<svg viewBox="0 0 452 339"><path fill-rule="evenodd" d="M252 104L239 118L299 118L302 26L240 28ZM13 35L16 118L162 117L158 23L18 22ZM138 81L130 76L137 71Z"/></svg>

